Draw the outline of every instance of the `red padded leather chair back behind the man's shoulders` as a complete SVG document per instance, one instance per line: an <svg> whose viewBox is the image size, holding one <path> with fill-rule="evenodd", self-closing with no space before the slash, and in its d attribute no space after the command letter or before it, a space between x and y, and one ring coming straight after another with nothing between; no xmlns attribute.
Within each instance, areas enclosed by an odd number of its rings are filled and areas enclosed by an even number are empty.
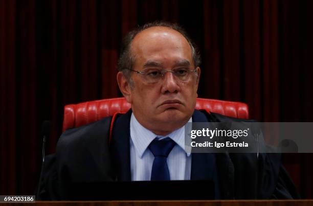
<svg viewBox="0 0 313 206"><path fill-rule="evenodd" d="M64 107L63 131L113 116L116 112L125 113L129 108L130 104L126 102L125 98L66 105ZM205 109L234 118L249 118L248 105L241 102L197 98L196 109Z"/></svg>

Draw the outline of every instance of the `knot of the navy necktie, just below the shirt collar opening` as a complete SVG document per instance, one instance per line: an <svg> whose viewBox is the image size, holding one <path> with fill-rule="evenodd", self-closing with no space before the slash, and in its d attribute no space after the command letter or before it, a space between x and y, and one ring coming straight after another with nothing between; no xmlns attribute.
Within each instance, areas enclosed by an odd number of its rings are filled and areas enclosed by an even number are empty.
<svg viewBox="0 0 313 206"><path fill-rule="evenodd" d="M150 145L149 149L154 155L167 157L169 153L172 151L173 147L175 146L175 142L170 138L165 138L163 140L154 139Z"/></svg>

